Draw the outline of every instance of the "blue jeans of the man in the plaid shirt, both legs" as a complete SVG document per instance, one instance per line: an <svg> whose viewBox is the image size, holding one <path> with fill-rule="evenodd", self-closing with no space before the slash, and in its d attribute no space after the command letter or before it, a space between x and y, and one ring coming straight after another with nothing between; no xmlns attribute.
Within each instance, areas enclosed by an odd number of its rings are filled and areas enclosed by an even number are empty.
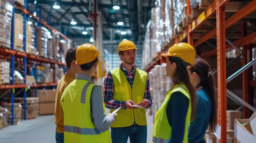
<svg viewBox="0 0 256 143"><path fill-rule="evenodd" d="M147 126L135 124L128 127L111 128L112 143L127 143L128 136L130 143L147 143Z"/></svg>

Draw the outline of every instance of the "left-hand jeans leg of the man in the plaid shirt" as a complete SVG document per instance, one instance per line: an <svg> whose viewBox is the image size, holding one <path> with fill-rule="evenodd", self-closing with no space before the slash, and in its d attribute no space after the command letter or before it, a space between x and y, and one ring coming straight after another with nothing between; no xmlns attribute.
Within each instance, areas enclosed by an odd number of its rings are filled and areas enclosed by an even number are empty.
<svg viewBox="0 0 256 143"><path fill-rule="evenodd" d="M111 128L112 143L127 143L128 136L132 134L133 125L129 127Z"/></svg>

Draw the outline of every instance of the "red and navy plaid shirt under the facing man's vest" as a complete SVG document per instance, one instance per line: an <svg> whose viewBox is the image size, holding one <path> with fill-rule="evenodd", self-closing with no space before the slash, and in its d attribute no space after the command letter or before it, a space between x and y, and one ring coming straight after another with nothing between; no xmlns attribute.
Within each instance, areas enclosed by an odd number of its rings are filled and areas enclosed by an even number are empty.
<svg viewBox="0 0 256 143"><path fill-rule="evenodd" d="M126 68L124 68L123 64L120 65L120 68L124 72L124 75L126 76L127 81L129 82L130 86L132 87L133 79L134 79L135 73L136 73L136 68L134 66L132 66L132 72L130 74L128 74L128 70L126 70ZM125 107L126 101L113 100L114 87L115 86L114 86L114 82L113 82L111 73L108 72L106 77L104 78L104 87L103 87L103 97L104 97L105 106L107 108L113 108L113 109L117 109L119 107L126 109L126 107ZM149 79L148 78L147 78L147 83L146 83L145 93L144 93L143 98L148 99L148 101L149 101L148 108L150 108L152 106L152 99L151 99L151 94L150 94L150 89L149 89Z"/></svg>

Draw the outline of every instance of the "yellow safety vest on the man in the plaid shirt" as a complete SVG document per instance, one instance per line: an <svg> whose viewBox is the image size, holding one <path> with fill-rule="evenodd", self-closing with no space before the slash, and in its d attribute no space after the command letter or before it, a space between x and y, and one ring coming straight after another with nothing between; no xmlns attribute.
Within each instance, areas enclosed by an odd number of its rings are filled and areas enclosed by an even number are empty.
<svg viewBox="0 0 256 143"><path fill-rule="evenodd" d="M148 74L143 70L136 68L135 78L132 88L128 83L126 76L120 68L110 70L114 82L113 100L128 101L132 100L134 103L143 101L145 87ZM110 109L113 112L114 109ZM117 119L110 127L128 127L135 122L138 125L147 125L146 112L144 108L137 109L120 109L117 112Z"/></svg>

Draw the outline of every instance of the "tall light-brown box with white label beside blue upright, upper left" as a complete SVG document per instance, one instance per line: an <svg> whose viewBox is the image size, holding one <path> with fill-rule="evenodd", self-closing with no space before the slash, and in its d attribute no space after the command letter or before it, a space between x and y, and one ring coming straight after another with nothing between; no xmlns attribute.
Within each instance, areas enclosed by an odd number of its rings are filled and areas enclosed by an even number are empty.
<svg viewBox="0 0 256 143"><path fill-rule="evenodd" d="M14 47L23 48L23 16L14 13Z"/></svg>

